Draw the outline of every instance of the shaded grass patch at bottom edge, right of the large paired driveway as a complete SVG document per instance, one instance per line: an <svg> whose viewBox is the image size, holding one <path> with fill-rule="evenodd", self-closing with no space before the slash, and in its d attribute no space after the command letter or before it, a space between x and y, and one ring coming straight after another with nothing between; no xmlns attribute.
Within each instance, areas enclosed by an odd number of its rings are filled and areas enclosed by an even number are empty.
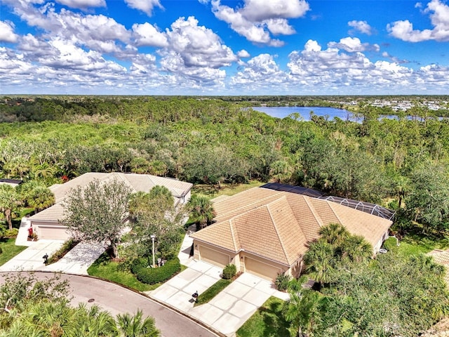
<svg viewBox="0 0 449 337"><path fill-rule="evenodd" d="M284 301L270 297L248 321L237 330L237 337L288 337L290 324L283 319Z"/></svg>

